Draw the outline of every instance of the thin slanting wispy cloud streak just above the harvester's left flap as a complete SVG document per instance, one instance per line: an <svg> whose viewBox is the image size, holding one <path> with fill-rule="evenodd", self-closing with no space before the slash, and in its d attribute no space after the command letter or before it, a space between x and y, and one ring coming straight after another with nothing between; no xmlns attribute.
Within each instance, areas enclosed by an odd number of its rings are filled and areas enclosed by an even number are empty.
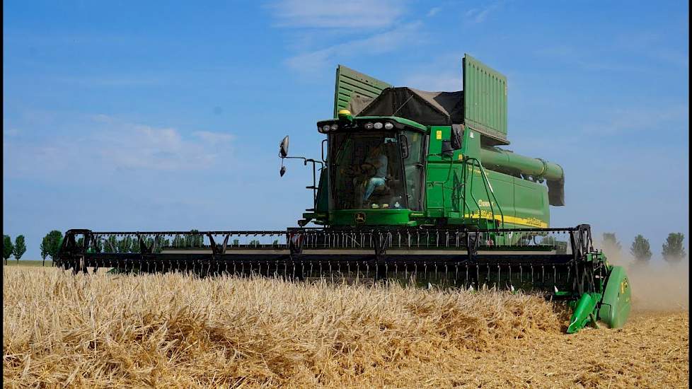
<svg viewBox="0 0 692 389"><path fill-rule="evenodd" d="M401 47L415 45L424 39L420 34L422 23L413 22L370 37L340 43L321 50L306 52L287 59L289 67L303 73L312 73L335 62L335 57L358 54L384 54Z"/></svg>

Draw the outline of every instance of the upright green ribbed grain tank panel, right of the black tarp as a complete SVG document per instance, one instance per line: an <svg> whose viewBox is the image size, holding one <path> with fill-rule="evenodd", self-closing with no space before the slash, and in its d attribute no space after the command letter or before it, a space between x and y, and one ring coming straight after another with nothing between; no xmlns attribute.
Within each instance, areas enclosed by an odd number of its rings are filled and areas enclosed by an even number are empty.
<svg viewBox="0 0 692 389"><path fill-rule="evenodd" d="M507 141L507 77L463 55L463 122L492 139Z"/></svg>

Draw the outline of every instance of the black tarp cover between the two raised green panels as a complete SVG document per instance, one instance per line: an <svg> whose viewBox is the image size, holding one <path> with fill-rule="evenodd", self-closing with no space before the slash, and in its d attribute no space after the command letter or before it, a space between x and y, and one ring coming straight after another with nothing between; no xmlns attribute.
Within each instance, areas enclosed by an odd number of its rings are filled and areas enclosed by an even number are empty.
<svg viewBox="0 0 692 389"><path fill-rule="evenodd" d="M348 110L354 116L398 116L427 126L449 126L463 121L463 91L386 88L374 99L354 96Z"/></svg>

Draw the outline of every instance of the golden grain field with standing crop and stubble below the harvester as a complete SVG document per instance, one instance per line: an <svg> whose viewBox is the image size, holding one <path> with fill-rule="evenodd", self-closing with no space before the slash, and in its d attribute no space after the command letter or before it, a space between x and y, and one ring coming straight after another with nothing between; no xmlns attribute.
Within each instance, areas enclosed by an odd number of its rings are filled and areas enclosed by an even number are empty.
<svg viewBox="0 0 692 389"><path fill-rule="evenodd" d="M566 335L521 294L3 272L6 388L688 387L688 286Z"/></svg>

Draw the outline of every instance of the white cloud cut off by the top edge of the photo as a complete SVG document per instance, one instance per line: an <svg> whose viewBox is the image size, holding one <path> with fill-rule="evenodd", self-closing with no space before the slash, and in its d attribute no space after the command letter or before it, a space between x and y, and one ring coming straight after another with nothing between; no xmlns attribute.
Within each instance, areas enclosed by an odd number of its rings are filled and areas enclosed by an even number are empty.
<svg viewBox="0 0 692 389"><path fill-rule="evenodd" d="M267 6L279 27L386 28L403 15L396 0L279 0Z"/></svg>

